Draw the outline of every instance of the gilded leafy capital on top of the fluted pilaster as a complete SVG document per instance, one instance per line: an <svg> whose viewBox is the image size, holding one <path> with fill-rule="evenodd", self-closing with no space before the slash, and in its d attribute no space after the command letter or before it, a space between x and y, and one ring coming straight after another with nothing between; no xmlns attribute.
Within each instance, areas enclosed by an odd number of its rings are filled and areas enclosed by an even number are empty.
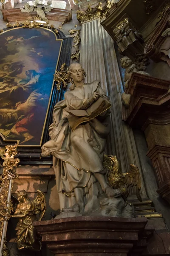
<svg viewBox="0 0 170 256"><path fill-rule="evenodd" d="M104 7L102 7L102 3L98 3L98 5L94 8L88 5L88 8L85 12L77 11L77 20L80 23L87 22L90 20L94 20L96 18L103 19L106 17L108 10L111 8L111 2L107 1Z"/></svg>

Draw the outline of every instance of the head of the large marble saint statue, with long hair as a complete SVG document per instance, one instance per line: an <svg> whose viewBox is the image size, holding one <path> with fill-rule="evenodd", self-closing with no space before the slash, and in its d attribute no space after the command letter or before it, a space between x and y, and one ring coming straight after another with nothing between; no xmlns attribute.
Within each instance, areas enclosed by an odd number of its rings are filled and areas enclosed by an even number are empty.
<svg viewBox="0 0 170 256"><path fill-rule="evenodd" d="M71 64L68 69L68 79L70 79L72 85L70 87L70 90L74 90L75 84L74 81L80 82L85 81L86 73L85 70L82 68L82 66L79 63Z"/></svg>

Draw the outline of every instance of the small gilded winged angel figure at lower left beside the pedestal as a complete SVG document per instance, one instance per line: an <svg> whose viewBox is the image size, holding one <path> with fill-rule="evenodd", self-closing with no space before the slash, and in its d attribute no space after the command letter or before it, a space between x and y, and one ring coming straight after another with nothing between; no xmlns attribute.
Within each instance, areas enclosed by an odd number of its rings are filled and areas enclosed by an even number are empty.
<svg viewBox="0 0 170 256"><path fill-rule="evenodd" d="M17 205L14 215L11 215L11 217L19 218L16 227L17 247L19 250L41 250L41 237L38 235L32 223L33 221L42 220L45 214L46 202L44 193L40 190L38 190L37 193L37 197L33 201L30 201L25 190L17 192L19 204ZM38 215L38 218L36 215Z"/></svg>

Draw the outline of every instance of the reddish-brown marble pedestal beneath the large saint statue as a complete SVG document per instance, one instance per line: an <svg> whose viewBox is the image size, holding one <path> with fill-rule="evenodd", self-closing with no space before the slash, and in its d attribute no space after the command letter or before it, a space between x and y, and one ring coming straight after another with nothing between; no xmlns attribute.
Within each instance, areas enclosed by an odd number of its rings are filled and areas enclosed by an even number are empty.
<svg viewBox="0 0 170 256"><path fill-rule="evenodd" d="M146 218L88 216L33 223L55 256L140 255L153 233L146 224Z"/></svg>

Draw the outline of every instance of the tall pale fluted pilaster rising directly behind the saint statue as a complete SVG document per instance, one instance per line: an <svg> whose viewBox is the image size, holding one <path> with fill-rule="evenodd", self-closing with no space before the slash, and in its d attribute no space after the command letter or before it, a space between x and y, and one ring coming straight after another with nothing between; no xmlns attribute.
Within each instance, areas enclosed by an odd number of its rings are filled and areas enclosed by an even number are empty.
<svg viewBox="0 0 170 256"><path fill-rule="evenodd" d="M100 81L101 87L112 103L109 153L119 157L122 172L129 170L130 163L136 164L140 169L133 131L129 125L122 122L123 86L113 40L101 26L99 18L82 23L81 38L80 64L87 73L87 82ZM146 196L143 180L142 194Z"/></svg>

